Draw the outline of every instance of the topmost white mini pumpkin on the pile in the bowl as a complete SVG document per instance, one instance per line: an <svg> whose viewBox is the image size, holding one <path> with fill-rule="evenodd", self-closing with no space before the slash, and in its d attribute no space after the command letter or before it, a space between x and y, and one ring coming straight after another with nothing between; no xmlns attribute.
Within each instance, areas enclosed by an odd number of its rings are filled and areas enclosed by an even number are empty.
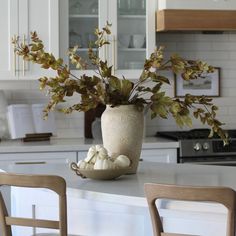
<svg viewBox="0 0 236 236"><path fill-rule="evenodd" d="M102 145L94 145L89 148L86 162L95 163L97 159L106 159L108 157L107 150Z"/></svg>

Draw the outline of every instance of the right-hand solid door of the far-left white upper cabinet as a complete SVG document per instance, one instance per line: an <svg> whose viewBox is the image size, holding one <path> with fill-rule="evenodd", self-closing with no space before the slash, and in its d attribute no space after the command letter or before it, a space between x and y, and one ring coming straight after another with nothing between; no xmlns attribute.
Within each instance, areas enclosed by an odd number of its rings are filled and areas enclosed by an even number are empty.
<svg viewBox="0 0 236 236"><path fill-rule="evenodd" d="M19 0L19 36L29 43L30 32L36 31L47 51L59 56L59 2L58 0ZM38 79L50 72L39 65L19 59L19 78Z"/></svg>

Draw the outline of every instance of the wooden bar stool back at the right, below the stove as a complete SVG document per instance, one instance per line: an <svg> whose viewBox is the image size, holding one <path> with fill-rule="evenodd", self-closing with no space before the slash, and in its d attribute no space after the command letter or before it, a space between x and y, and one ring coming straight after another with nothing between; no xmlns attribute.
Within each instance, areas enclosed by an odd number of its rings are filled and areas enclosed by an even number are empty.
<svg viewBox="0 0 236 236"><path fill-rule="evenodd" d="M227 187L194 187L147 183L144 185L144 190L151 215L154 236L190 236L164 232L156 206L157 199L221 203L228 209L226 235L235 236L236 194L233 189Z"/></svg>

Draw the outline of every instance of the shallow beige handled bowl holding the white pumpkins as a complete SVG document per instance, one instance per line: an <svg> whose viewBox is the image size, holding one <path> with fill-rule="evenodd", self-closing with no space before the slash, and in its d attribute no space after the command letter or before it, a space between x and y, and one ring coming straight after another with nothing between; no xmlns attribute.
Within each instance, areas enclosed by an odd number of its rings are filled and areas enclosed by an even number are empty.
<svg viewBox="0 0 236 236"><path fill-rule="evenodd" d="M76 163L71 163L71 169L82 178L95 180L112 180L126 174L129 168L106 169L106 170L86 170L77 167Z"/></svg>

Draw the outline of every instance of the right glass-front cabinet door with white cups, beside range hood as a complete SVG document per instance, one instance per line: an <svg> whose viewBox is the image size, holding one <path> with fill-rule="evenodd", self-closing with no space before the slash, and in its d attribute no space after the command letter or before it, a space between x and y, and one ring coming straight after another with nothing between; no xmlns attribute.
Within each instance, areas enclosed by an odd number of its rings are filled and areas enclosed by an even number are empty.
<svg viewBox="0 0 236 236"><path fill-rule="evenodd" d="M138 78L155 48L155 0L110 0L110 63L115 73Z"/></svg>

